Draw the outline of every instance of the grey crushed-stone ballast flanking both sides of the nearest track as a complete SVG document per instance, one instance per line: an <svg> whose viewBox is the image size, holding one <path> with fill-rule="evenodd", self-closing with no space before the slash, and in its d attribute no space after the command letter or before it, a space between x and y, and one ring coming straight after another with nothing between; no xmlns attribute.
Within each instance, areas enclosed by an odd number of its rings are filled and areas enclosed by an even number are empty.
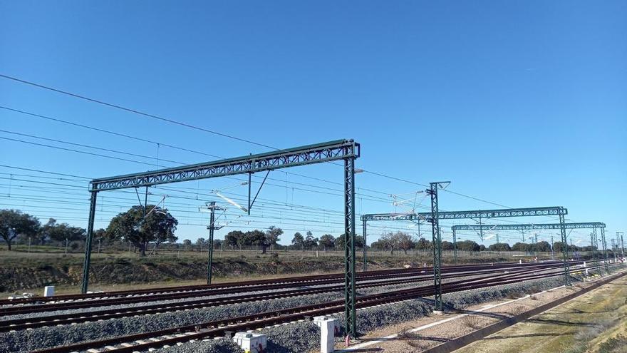
<svg viewBox="0 0 627 353"><path fill-rule="evenodd" d="M463 278L460 277L451 280L463 280ZM524 282L516 285L499 286L489 290L473 290L454 293L444 295L444 299L450 307L460 309L466 305L477 302L497 300L509 295L509 293L513 290L529 290L529 285L534 285L534 288L543 290L549 287L556 287L560 282L561 280L559 277L555 277L548 280L537 280L529 283ZM380 292L388 292L390 290L416 287L417 285L421 285L421 282L391 285L387 287L363 288L359 290L359 292L361 295L369 295ZM88 322L84 324L64 325L59 327L42 327L19 332L6 332L0 334L0 352L31 352L33 349L86 342L125 334L150 332L158 329L198 324L199 322L227 319L229 317L255 314L258 312L274 311L284 309L286 307L296 307L331 300L341 300L342 298L343 293L332 292L318 295L291 297L281 300L266 300L260 302L242 303L238 305L210 307L207 309L168 312L138 317L125 317L121 319L110 319L101 322ZM431 310L432 301L427 299L409 300L393 305L383 305L380 307L363 309L358 311L358 327L362 331L369 331L383 325L394 324L421 317ZM340 321L343 325L343 318L341 318ZM315 349L319 344L319 329L313 322L297 322L294 324L283 325L281 327L270 327L262 330L262 332L267 332L267 334L270 335L271 343L268 352L305 352L308 349ZM192 342L192 344L213 343L213 340L208 342ZM187 345L188 344L186 343L181 346L169 347L167 349L187 349L185 348ZM201 349L192 351L185 350L181 352L204 351ZM224 352L229 351L227 350Z"/></svg>

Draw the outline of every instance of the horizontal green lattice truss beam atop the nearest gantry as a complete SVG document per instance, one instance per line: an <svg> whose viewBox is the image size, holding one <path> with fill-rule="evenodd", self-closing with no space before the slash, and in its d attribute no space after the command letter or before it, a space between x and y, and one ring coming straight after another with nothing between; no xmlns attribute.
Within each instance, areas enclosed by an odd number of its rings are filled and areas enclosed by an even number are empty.
<svg viewBox="0 0 627 353"><path fill-rule="evenodd" d="M265 170L296 167L313 163L358 158L359 144L353 140L335 140L299 148L247 155L213 162L184 165L145 173L119 175L91 181L92 191L138 188L189 180L218 178L227 175L257 173Z"/></svg>

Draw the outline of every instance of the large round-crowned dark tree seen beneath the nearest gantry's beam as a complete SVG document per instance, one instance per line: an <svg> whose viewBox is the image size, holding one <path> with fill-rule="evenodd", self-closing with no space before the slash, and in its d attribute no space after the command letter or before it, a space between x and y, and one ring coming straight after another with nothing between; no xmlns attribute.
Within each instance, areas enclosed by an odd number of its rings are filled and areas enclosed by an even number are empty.
<svg viewBox="0 0 627 353"><path fill-rule="evenodd" d="M155 242L155 249L162 242L175 242L178 223L165 208L136 205L116 215L107 227L107 234L114 239L132 242L140 250L140 255L145 256L150 242Z"/></svg>

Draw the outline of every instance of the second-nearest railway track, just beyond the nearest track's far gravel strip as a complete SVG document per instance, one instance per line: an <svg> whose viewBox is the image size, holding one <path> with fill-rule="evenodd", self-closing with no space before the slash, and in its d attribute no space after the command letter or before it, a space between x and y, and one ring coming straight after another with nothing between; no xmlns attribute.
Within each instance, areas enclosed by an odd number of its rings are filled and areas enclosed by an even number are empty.
<svg viewBox="0 0 627 353"><path fill-rule="evenodd" d="M550 270L556 267L560 267L561 264L550 264L550 265L538 265L538 266L529 266L524 267L522 269L512 270L509 272L510 274L515 274L519 272L529 272L529 271L541 271L541 270ZM475 275L494 275L496 273L502 273L504 270L484 270L480 274ZM455 277L466 277L466 273L452 273L442 275L442 279L450 279ZM424 275L419 278L413 279L404 279L404 280L387 280L382 282L373 282L373 283L361 283L358 284L358 288L366 288L366 287L381 287L387 285L399 285L410 282L423 282L425 280L429 280L429 275ZM221 297L207 300L194 300L190 302L182 302L182 303L172 303L172 304L157 304L157 305L144 305L141 307L128 307L128 308L116 308L116 309L102 309L102 310L93 310L90 312L74 312L69 314L53 314L48 316L38 316L38 317L27 317L21 319L4 319L0 322L0 332L8 332L13 330L20 329L33 329L36 327L46 327L51 325L61 325L61 324L74 324L80 322L93 322L103 319L114 319L120 317L130 317L135 315L145 315L145 314L158 314L162 312L176 312L181 310L188 309L199 309L206 307L216 307L219 305L233 305L243 302L255 302L259 300L273 300L273 299L282 299L286 297L295 297L301 295L313 295L323 292L337 292L343 290L343 285L334 285L332 287L318 287L318 288L300 288L296 290L289 290L286 292L269 292L269 293L255 293L248 295L239 295L239 296L231 296L231 297ZM86 303L81 303L81 307L86 305ZM12 309L20 309L19 307L14 307ZM22 311L16 311L19 314L24 314L28 312L41 312L42 309L37 306L33 307L23 307ZM25 311L28 309L28 311ZM51 309L58 310L58 307L53 307ZM76 307L73 307L76 309Z"/></svg>

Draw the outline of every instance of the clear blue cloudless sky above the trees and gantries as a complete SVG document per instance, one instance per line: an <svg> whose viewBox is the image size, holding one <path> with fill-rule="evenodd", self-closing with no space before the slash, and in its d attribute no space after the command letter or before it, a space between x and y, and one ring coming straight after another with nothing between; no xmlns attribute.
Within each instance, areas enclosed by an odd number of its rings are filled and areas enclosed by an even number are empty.
<svg viewBox="0 0 627 353"><path fill-rule="evenodd" d="M0 0L0 73L276 148L353 138L358 168L451 180L450 190L492 202L442 193L444 210L563 205L569 220L606 222L613 237L627 230L626 19L626 1ZM6 166L95 178L269 150L6 78L0 106L156 142L0 109L0 208L44 222L84 227L87 180ZM229 207L219 236L269 225L286 229L283 243L295 231L340 234L341 168L286 171L306 177L271 173L252 216ZM356 178L360 214L407 210L389 195L424 189ZM207 236L198 206L227 205L210 190L243 199L238 183L165 185L150 200L167 194L177 235L195 240ZM96 227L136 199L102 195ZM370 240L413 229L373 225Z"/></svg>

